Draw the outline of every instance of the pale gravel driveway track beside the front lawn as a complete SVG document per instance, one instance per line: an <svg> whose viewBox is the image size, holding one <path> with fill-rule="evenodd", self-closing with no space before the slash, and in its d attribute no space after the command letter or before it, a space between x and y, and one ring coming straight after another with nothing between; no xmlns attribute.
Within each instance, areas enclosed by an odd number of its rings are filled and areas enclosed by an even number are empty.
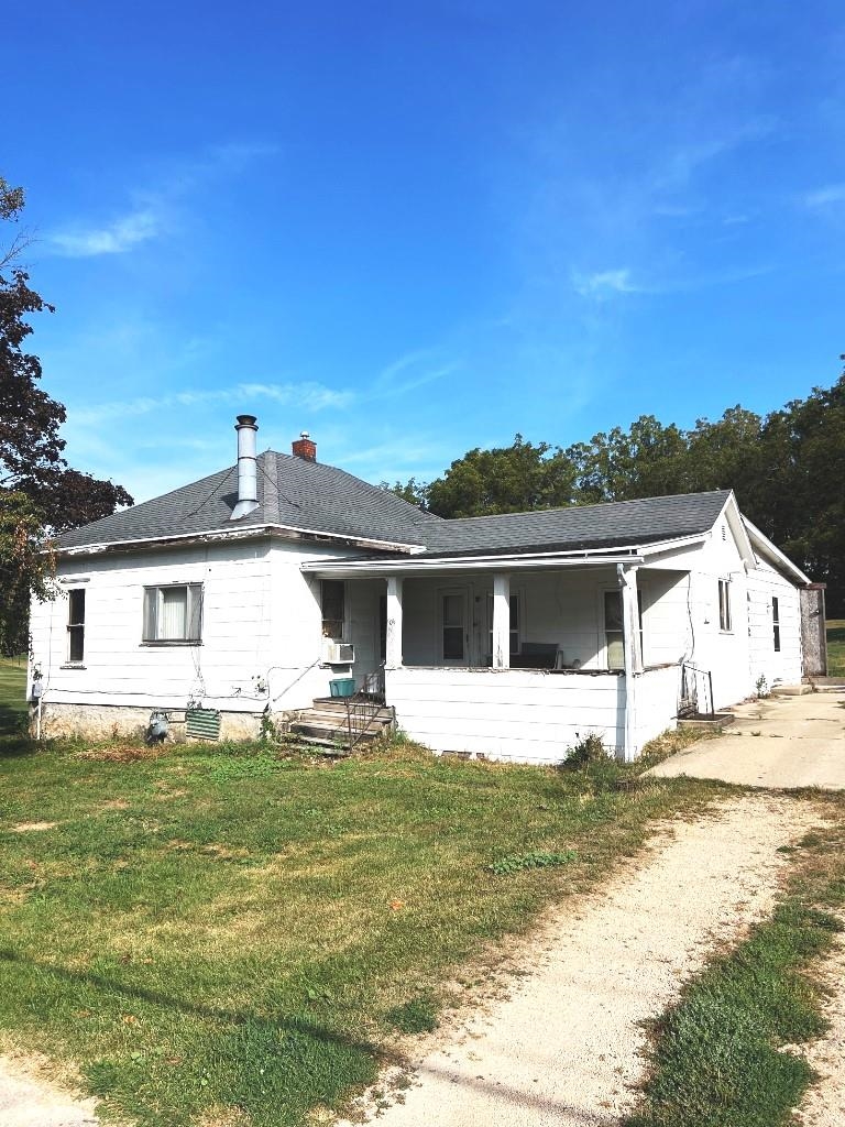
<svg viewBox="0 0 845 1127"><path fill-rule="evenodd" d="M673 823L516 947L523 976L509 996L417 1041L404 1093L393 1070L356 1113L381 1111L383 1127L617 1124L643 1079L643 1022L771 913L788 866L779 846L822 823L818 808L772 795ZM402 1102L383 1110L385 1091Z"/></svg>

